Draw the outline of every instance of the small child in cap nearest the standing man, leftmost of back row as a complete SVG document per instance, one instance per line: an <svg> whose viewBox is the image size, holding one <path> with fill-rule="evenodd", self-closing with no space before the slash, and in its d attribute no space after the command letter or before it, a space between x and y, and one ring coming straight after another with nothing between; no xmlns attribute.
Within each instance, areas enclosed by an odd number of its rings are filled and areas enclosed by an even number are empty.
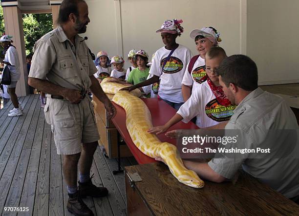
<svg viewBox="0 0 299 216"><path fill-rule="evenodd" d="M93 76L99 80L101 83L103 79L110 77L111 67L110 67L110 59L108 54L105 51L100 51L97 54L97 58L95 60L96 68L98 69L97 73Z"/></svg>

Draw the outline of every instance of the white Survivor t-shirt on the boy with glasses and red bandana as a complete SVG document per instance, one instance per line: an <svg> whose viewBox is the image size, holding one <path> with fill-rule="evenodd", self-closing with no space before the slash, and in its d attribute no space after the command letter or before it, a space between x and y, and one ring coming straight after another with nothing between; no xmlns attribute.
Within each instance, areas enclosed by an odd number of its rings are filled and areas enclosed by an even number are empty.
<svg viewBox="0 0 299 216"><path fill-rule="evenodd" d="M196 125L200 128L210 127L222 121L229 120L234 114L235 105L222 106L214 96L208 81L200 84L191 97L176 112L187 123L192 118L196 119Z"/></svg>

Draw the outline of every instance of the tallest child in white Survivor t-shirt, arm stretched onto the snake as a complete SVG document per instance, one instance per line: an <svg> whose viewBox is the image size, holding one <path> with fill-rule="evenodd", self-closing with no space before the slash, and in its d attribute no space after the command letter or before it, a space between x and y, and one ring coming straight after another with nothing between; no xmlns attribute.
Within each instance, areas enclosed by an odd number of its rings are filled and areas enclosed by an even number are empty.
<svg viewBox="0 0 299 216"><path fill-rule="evenodd" d="M159 97L176 110L180 108L184 102L181 82L186 66L192 57L192 53L187 47L175 41L177 36L183 32L183 27L180 25L182 22L182 20L166 20L156 31L161 34L165 46L156 51L149 71L153 75L152 78L122 90L132 91L158 82L160 79Z"/></svg>

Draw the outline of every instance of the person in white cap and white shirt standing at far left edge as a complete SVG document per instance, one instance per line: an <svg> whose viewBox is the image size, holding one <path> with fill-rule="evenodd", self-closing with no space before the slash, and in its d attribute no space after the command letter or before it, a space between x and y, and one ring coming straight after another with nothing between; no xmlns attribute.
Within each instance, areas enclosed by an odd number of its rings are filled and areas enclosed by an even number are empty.
<svg viewBox="0 0 299 216"><path fill-rule="evenodd" d="M7 85L7 92L10 95L11 102L14 105L14 108L9 112L9 117L14 116L21 116L23 115L21 106L19 106L18 97L16 95L16 86L17 82L21 77L21 71L20 71L20 61L19 61L19 55L17 52L17 49L15 46L11 44L11 36L3 35L0 38L0 42L2 47L4 48L3 53L5 55L3 59L4 68L5 66L8 67L10 77L11 77L11 84Z"/></svg>

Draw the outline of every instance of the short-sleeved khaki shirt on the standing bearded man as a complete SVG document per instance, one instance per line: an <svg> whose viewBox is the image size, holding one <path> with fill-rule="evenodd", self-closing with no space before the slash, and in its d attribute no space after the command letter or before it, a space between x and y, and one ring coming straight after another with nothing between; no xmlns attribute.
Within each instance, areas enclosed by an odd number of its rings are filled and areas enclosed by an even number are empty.
<svg viewBox="0 0 299 216"><path fill-rule="evenodd" d="M29 77L47 79L64 88L85 92L89 76L97 72L84 39L76 35L72 44L61 26L44 35L33 48Z"/></svg>

